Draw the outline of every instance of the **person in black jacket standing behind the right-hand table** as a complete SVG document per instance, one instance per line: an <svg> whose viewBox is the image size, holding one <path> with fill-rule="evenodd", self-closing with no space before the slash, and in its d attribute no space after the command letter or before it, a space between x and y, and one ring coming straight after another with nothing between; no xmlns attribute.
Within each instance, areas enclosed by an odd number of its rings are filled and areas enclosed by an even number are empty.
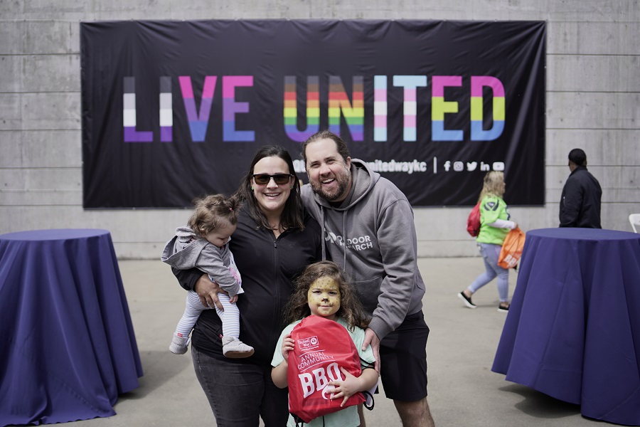
<svg viewBox="0 0 640 427"><path fill-rule="evenodd" d="M582 149L569 152L569 169L571 174L560 199L560 227L602 228L602 189L598 180L587 171L587 154Z"/></svg>

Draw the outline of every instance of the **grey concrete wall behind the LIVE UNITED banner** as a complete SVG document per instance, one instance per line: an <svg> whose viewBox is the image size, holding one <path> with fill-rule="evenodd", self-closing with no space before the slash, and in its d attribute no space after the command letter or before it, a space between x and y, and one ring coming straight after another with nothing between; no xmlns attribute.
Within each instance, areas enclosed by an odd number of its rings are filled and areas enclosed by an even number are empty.
<svg viewBox="0 0 640 427"><path fill-rule="evenodd" d="M602 226L640 212L637 0L0 1L0 233L106 228L117 255L158 258L181 209L85 211L80 21L125 19L546 20L545 206L513 207L523 230L558 225L567 154L582 147L604 191ZM476 255L467 208L415 209L421 256Z"/></svg>

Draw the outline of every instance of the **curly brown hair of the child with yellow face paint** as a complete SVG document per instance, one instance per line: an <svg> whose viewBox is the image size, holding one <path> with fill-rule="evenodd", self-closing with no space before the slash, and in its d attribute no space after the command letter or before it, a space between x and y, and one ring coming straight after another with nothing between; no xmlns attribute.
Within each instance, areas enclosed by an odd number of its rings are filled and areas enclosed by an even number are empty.
<svg viewBox="0 0 640 427"><path fill-rule="evenodd" d="M300 320L303 317L311 315L309 308L309 288L317 279L329 277L336 281L340 290L340 308L336 312L338 317L342 317L349 325L349 329L353 331L353 327L366 328L370 319L365 314L358 294L353 290L353 286L348 282L345 273L340 266L331 261L319 261L307 265L294 282L295 288L287 307L285 308L284 317L287 325L289 323Z"/></svg>

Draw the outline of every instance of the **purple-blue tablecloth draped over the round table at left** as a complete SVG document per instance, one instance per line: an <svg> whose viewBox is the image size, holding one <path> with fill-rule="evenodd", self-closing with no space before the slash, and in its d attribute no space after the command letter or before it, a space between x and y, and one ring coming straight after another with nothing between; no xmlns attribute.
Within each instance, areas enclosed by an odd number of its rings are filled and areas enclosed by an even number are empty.
<svg viewBox="0 0 640 427"><path fill-rule="evenodd" d="M109 231L0 236L0 425L115 414L142 364Z"/></svg>

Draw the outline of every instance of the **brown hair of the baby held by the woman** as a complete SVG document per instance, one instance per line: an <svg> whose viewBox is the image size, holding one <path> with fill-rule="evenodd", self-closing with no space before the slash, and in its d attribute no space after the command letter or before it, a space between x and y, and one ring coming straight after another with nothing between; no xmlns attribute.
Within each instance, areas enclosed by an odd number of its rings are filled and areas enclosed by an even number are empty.
<svg viewBox="0 0 640 427"><path fill-rule="evenodd" d="M224 194L210 194L193 199L195 209L187 225L197 236L204 237L220 222L227 221L232 226L238 223L240 201L236 196L227 197Z"/></svg>

